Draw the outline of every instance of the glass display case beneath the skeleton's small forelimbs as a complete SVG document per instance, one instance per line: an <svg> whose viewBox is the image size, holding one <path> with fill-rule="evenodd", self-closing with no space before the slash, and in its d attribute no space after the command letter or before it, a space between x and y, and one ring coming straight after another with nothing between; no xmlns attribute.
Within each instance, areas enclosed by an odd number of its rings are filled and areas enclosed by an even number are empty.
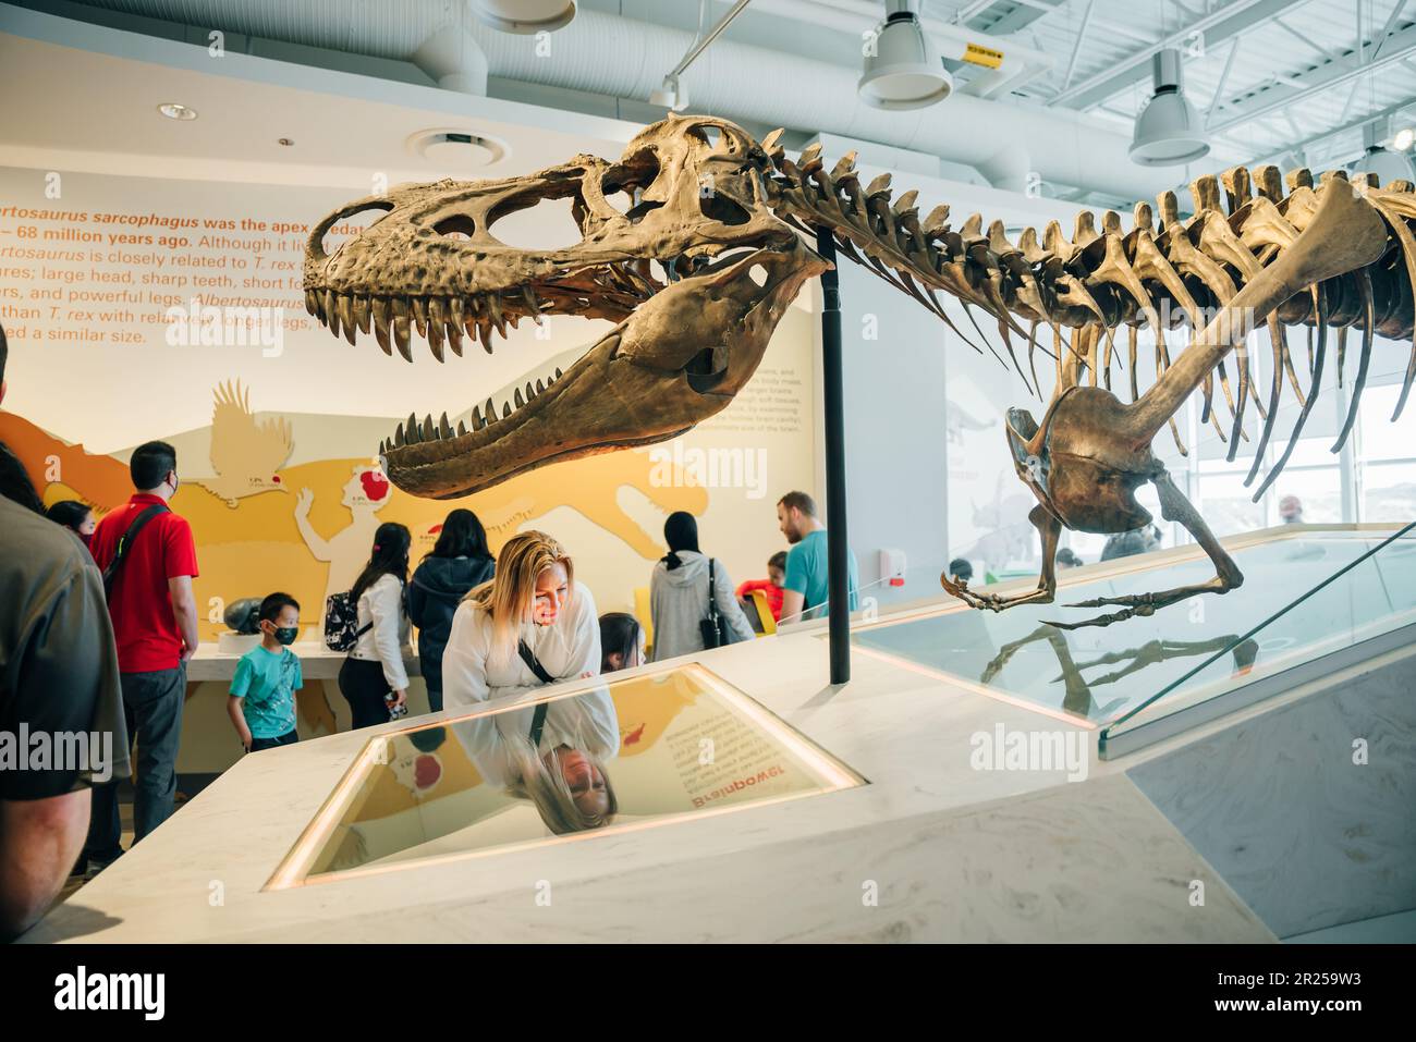
<svg viewBox="0 0 1416 1042"><path fill-rule="evenodd" d="M1075 602L1204 582L1214 566L1191 546L1107 562L1072 580L1063 571L1054 605L1001 613L946 605L857 624L852 644L1100 729L1103 755L1117 753L1123 735L1165 715L1416 624L1413 527L1296 525L1226 539L1243 586L1110 626L1051 622L1116 610Z"/></svg>

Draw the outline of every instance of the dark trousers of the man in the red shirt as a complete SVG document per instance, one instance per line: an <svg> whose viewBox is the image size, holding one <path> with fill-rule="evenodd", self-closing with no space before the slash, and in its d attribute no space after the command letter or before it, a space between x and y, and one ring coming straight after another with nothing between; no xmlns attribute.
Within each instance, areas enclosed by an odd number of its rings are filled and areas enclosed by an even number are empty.
<svg viewBox="0 0 1416 1042"><path fill-rule="evenodd" d="M127 735L137 742L133 765L133 842L136 844L171 817L177 794L177 740L181 736L181 708L187 695L187 667L154 672L119 674ZM123 825L118 814L118 784L93 786L84 852L89 861L106 864L122 848Z"/></svg>

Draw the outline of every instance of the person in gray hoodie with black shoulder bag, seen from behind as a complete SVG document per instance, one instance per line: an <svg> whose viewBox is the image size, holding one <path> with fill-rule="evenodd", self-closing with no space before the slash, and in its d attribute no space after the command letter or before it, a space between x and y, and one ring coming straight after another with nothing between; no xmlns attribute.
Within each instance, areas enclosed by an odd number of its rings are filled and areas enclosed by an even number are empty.
<svg viewBox="0 0 1416 1042"><path fill-rule="evenodd" d="M675 511L664 522L668 554L654 565L649 582L649 612L654 623L653 661L702 651L698 623L708 617L708 562L698 549L698 521L692 514ZM716 558L712 559L712 597L728 627L728 643L752 640L752 624L738 606L732 578Z"/></svg>

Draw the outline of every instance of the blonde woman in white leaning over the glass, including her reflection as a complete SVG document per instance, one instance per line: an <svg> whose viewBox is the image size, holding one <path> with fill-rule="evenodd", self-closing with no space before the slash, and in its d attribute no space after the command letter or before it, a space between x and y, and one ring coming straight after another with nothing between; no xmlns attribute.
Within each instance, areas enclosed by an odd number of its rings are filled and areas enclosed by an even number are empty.
<svg viewBox="0 0 1416 1042"><path fill-rule="evenodd" d="M531 661L528 661L531 660ZM545 674L537 675L531 663ZM595 597L545 532L521 532L497 555L491 582L457 606L443 651L443 708L481 708L600 668ZM602 828L617 810L605 762L619 719L605 689L453 725L490 782L530 798L555 832Z"/></svg>

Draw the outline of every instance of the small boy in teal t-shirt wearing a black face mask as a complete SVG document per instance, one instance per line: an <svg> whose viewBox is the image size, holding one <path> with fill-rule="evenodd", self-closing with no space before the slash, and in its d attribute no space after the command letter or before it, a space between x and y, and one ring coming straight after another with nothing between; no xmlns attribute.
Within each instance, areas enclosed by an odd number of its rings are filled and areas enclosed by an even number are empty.
<svg viewBox="0 0 1416 1042"><path fill-rule="evenodd" d="M296 740L295 692L303 684L300 658L290 650L300 631L300 605L289 593L261 602L261 643L241 655L231 678L227 712L248 753Z"/></svg>

